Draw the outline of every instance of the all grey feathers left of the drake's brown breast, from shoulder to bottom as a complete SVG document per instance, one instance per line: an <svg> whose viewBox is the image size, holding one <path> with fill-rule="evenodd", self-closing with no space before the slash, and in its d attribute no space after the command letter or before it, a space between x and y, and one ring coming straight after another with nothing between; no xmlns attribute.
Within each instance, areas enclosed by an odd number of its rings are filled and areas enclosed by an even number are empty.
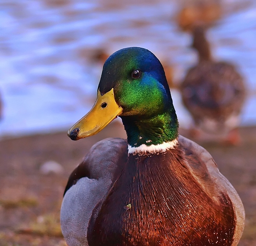
<svg viewBox="0 0 256 246"><path fill-rule="evenodd" d="M90 170L65 193L61 205L61 230L69 246L87 246L87 228L97 204L102 204L127 157L124 139L108 138L96 143L80 165Z"/></svg>

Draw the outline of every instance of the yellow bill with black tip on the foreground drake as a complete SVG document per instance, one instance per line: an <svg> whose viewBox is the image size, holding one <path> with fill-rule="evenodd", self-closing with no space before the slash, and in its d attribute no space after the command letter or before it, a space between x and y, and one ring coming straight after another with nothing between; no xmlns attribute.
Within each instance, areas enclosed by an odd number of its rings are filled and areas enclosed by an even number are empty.
<svg viewBox="0 0 256 246"><path fill-rule="evenodd" d="M103 96L98 91L93 108L69 129L68 137L78 140L97 134L121 112L122 108L116 104L114 99L114 89Z"/></svg>

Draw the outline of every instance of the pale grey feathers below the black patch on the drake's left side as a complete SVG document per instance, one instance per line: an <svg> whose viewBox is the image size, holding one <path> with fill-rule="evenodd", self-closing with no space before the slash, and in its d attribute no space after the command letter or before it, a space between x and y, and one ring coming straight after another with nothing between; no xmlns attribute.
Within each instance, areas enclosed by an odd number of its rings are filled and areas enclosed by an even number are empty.
<svg viewBox="0 0 256 246"><path fill-rule="evenodd" d="M87 246L87 227L97 203L105 197L111 182L80 178L65 194L60 212L61 231L69 246Z"/></svg>

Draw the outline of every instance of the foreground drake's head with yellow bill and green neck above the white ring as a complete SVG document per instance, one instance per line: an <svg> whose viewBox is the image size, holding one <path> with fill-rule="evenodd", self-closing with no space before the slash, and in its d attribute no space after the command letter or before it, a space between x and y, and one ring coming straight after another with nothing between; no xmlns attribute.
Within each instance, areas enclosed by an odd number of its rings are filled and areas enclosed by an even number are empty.
<svg viewBox="0 0 256 246"><path fill-rule="evenodd" d="M111 95L112 99L106 99ZM115 106L112 107L110 101L114 101ZM107 124L117 115L121 117L128 143L133 147L177 138L177 116L165 72L160 61L149 50L129 47L110 55L103 66L95 107L99 108L99 112L106 112L110 107L113 109ZM94 111L93 114L95 118ZM100 115L97 117L102 118ZM88 114L86 116L88 119ZM94 131L90 129L89 132L84 129L86 127L82 120L69 130L72 139L93 135L106 126L106 123L99 123L96 130L94 127ZM89 134L85 135L85 131Z"/></svg>

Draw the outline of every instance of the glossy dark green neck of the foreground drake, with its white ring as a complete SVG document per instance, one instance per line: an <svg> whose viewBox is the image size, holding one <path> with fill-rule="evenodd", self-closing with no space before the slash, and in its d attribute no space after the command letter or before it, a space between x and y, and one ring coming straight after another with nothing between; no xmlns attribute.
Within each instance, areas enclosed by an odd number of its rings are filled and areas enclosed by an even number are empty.
<svg viewBox="0 0 256 246"><path fill-rule="evenodd" d="M175 146L178 137L178 120L173 106L166 112L151 118L133 119L132 116L122 116L127 133L129 148L144 148L144 151L154 146Z"/></svg>

